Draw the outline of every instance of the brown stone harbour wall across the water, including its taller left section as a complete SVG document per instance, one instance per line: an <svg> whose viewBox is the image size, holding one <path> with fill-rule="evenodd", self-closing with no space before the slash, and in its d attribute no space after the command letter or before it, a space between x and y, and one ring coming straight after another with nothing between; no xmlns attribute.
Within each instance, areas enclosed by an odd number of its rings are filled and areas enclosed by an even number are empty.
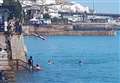
<svg viewBox="0 0 120 83"><path fill-rule="evenodd" d="M23 26L24 35L30 36L34 33L45 36L115 36L115 30L72 30L70 25L57 26L57 27L33 27Z"/></svg>

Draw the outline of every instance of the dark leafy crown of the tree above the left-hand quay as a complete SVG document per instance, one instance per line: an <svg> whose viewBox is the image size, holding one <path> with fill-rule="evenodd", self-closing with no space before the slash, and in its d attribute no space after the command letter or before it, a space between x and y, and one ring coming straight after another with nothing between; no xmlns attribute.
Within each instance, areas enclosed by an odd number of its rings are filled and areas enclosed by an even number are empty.
<svg viewBox="0 0 120 83"><path fill-rule="evenodd" d="M22 6L18 0L3 0L3 6L7 7L10 11L9 18L19 18L22 16Z"/></svg>

